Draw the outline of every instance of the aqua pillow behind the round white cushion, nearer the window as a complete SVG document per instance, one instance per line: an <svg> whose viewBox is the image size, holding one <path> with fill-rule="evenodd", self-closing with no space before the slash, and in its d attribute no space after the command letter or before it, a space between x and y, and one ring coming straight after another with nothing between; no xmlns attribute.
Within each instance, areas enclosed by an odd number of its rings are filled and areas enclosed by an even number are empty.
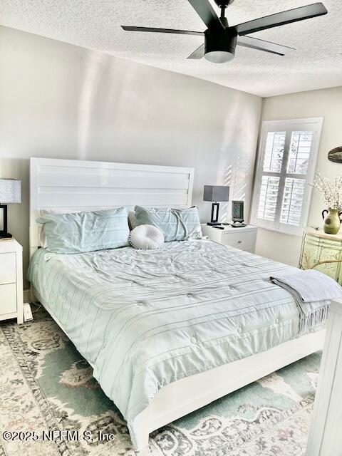
<svg viewBox="0 0 342 456"><path fill-rule="evenodd" d="M147 224L159 228L165 242L200 239L201 224L197 207L172 209L171 207L135 206L137 226Z"/></svg>

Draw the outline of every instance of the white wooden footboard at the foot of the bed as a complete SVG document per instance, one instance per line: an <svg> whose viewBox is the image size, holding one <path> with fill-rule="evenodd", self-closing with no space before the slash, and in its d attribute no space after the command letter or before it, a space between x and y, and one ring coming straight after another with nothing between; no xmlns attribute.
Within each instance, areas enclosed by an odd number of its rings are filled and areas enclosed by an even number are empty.
<svg viewBox="0 0 342 456"><path fill-rule="evenodd" d="M136 450L148 454L150 432L172 423L213 400L323 348L325 330L281 343L233 363L177 380L157 392L145 410L128 423Z"/></svg>

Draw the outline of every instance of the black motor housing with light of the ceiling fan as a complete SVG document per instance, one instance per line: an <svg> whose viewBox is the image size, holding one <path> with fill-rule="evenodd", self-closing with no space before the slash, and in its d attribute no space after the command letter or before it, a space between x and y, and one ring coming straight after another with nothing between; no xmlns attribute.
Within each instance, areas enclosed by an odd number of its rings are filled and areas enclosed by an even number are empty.
<svg viewBox="0 0 342 456"><path fill-rule="evenodd" d="M214 63L231 61L237 47L237 31L234 28L204 31L204 56Z"/></svg>

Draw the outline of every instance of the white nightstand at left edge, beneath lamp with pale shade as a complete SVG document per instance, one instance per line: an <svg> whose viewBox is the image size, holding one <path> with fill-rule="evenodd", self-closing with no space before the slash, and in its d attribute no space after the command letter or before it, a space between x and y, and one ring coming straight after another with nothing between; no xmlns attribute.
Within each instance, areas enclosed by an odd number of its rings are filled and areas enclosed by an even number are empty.
<svg viewBox="0 0 342 456"><path fill-rule="evenodd" d="M23 248L15 239L0 240L0 320L24 322Z"/></svg>

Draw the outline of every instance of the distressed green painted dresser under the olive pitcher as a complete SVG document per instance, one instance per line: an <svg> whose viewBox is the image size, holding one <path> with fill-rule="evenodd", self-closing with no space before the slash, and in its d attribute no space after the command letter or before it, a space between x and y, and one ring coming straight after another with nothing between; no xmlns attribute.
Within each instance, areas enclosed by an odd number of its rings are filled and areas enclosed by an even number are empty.
<svg viewBox="0 0 342 456"><path fill-rule="evenodd" d="M304 229L299 267L321 271L342 285L342 233Z"/></svg>

